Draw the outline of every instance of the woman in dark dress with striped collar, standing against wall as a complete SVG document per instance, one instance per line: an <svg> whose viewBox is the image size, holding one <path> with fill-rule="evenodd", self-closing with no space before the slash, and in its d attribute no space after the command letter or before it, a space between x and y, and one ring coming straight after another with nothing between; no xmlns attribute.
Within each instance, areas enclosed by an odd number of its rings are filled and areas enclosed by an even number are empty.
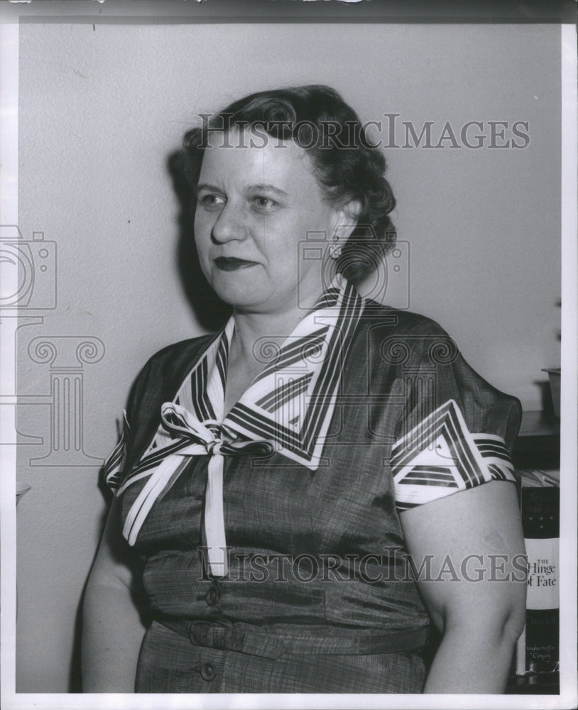
<svg viewBox="0 0 578 710"><path fill-rule="evenodd" d="M320 86L231 104L184 155L233 313L133 387L85 691L502 692L525 609L519 403L437 324L356 292L395 236L383 156Z"/></svg>

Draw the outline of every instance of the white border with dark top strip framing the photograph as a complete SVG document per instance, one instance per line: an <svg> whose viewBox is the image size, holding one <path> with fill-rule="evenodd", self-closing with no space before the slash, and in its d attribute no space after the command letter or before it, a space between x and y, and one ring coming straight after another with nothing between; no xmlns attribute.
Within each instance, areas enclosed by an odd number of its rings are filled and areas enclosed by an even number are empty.
<svg viewBox="0 0 578 710"><path fill-rule="evenodd" d="M39 6L42 6L41 9ZM562 486L560 559L560 695L556 696L380 696L370 694L285 695L119 695L25 694L15 691L16 618L16 446L1 449L1 690L9 709L40 708L180 708L180 707L312 707L378 708L525 708L573 707L577 701L577 59L575 4L572 2L498 4L496 2L353 2L319 0L276 1L182 0L33 0L0 7L0 224L18 224L18 28L21 23L549 23L560 25L562 82ZM459 11L458 11L459 9ZM4 369L2 377L10 376ZM3 425L3 434L10 434ZM14 433L15 436L15 433ZM14 439L16 444L16 439ZM569 495L568 493L572 493ZM563 522L562 522L563 521ZM563 660L562 660L563 658Z"/></svg>

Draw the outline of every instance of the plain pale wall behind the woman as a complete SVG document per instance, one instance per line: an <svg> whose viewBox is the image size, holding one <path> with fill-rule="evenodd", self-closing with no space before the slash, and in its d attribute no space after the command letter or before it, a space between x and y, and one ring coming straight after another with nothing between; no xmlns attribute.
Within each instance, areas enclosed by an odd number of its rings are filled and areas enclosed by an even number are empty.
<svg viewBox="0 0 578 710"><path fill-rule="evenodd" d="M57 243L58 304L18 331L18 692L77 690L78 609L102 528L99 461L143 362L200 334L177 268L167 161L200 111L283 84L334 86L364 120L528 121L523 149L392 148L410 307L525 409L560 364L560 29L557 26L24 24L19 225ZM511 133L508 131L508 135ZM399 137L403 143L403 133ZM446 143L446 146L448 143ZM394 304L396 305L396 304ZM82 366L87 466L50 449L48 364L36 337L96 337ZM62 343L62 341L58 341ZM72 342L72 340L67 341ZM41 400L44 395L45 400ZM41 463L41 462L40 462Z"/></svg>

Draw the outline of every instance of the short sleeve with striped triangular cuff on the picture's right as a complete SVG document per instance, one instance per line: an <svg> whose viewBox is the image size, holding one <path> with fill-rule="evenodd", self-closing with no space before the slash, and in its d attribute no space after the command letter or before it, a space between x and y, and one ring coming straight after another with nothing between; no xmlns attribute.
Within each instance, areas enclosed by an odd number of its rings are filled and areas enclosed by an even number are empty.
<svg viewBox="0 0 578 710"><path fill-rule="evenodd" d="M520 403L491 386L437 324L405 338L405 405L391 466L398 511L489 481L516 481L509 449Z"/></svg>

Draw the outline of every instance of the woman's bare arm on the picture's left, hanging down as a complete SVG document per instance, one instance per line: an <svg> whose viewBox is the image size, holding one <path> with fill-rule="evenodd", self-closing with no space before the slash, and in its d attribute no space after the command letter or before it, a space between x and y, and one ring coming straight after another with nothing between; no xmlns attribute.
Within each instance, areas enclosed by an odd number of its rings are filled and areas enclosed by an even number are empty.
<svg viewBox="0 0 578 710"><path fill-rule="evenodd" d="M82 689L133 693L146 625L138 608L141 571L119 528L114 498L84 594Z"/></svg>

